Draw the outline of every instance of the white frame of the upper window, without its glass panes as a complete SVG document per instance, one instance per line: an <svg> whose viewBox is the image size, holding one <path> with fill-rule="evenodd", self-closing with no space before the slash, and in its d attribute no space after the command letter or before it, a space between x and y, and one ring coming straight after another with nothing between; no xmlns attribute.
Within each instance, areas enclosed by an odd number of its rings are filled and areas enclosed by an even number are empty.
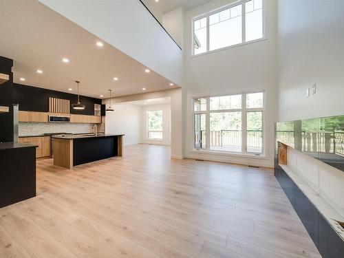
<svg viewBox="0 0 344 258"><path fill-rule="evenodd" d="M241 45L247 45L250 43L255 43L255 42L259 42L259 41L264 41L266 40L266 17L265 17L265 8L266 8L266 3L265 0L262 0L261 2L261 10L262 10L262 37L260 39L253 39L252 41L246 41L246 5L245 3L248 2L250 0L238 0L234 3L230 3L226 6L223 6L221 8L217 8L215 10L212 10L211 12L207 12L206 14L202 14L199 15L197 17L194 17L191 21L191 57L193 56L202 56L204 54L211 54L213 52L217 52L217 51L221 51L221 50L226 50L228 48L232 48L232 47L238 47ZM217 48L216 50L209 50L209 43L210 43L210 39L209 39L209 17L213 14L216 14L217 12L222 12L223 10L227 10L229 8L233 8L235 6L239 6L241 5L241 43L235 44L235 45L228 45L227 47L221 47L221 48ZM195 21L199 20L199 19L203 19L206 17L206 52L202 52L200 54L195 54L195 47L194 47L194 42L195 42Z"/></svg>

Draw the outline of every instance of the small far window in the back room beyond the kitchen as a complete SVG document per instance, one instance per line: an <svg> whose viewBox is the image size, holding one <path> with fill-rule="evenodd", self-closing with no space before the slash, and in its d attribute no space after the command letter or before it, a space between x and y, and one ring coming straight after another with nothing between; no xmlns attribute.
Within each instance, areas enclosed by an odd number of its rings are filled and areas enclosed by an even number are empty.
<svg viewBox="0 0 344 258"><path fill-rule="evenodd" d="M146 111L147 138L162 140L162 110Z"/></svg>

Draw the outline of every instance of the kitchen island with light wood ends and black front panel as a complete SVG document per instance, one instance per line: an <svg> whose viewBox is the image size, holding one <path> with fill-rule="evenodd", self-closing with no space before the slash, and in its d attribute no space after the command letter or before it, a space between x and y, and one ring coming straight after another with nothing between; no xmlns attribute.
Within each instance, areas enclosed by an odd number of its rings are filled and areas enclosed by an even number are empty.
<svg viewBox="0 0 344 258"><path fill-rule="evenodd" d="M73 166L122 156L124 134L53 136L54 165Z"/></svg>

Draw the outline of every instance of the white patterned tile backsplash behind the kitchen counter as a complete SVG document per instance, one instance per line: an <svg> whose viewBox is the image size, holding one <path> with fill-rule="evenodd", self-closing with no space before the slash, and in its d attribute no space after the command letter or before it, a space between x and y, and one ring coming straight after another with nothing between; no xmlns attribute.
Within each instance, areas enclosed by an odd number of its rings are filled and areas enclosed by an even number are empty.
<svg viewBox="0 0 344 258"><path fill-rule="evenodd" d="M58 122L19 122L19 136L43 133L91 133L93 124Z"/></svg>

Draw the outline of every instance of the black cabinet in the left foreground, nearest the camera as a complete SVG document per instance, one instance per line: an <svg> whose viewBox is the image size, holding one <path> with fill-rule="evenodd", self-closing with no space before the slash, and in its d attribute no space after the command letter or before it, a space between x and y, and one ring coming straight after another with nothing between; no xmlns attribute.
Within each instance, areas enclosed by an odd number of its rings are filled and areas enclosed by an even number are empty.
<svg viewBox="0 0 344 258"><path fill-rule="evenodd" d="M35 146L0 149L0 164L0 208L36 196Z"/></svg>

